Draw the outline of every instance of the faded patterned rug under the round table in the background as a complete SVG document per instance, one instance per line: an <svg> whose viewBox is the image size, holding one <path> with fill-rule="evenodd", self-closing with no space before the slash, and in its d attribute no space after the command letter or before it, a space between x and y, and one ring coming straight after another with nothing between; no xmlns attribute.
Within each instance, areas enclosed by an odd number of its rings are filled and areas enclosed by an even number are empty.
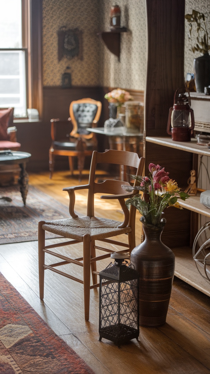
<svg viewBox="0 0 210 374"><path fill-rule="evenodd" d="M69 209L51 196L29 186L26 205L23 205L19 186L1 187L0 197L10 197L11 202L0 199L0 244L38 240L38 222L69 218ZM46 239L58 237L46 232Z"/></svg>

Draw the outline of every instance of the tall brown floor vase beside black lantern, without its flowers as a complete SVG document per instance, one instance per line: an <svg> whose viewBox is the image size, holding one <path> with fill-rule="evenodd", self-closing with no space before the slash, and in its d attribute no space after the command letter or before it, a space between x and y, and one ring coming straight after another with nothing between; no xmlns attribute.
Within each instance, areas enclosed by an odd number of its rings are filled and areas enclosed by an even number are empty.
<svg viewBox="0 0 210 374"><path fill-rule="evenodd" d="M131 263L140 274L139 324L145 327L164 325L174 277L174 253L161 242L161 228L148 227L141 217L145 240L131 252Z"/></svg>

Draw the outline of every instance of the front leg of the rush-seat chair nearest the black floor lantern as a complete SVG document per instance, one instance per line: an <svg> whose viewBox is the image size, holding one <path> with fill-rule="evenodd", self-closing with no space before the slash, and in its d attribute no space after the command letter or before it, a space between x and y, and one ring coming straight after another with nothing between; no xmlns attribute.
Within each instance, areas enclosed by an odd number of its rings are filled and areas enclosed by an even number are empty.
<svg viewBox="0 0 210 374"><path fill-rule="evenodd" d="M83 281L84 281L84 305L85 321L89 321L90 309L90 281L91 281L91 237L83 236Z"/></svg>

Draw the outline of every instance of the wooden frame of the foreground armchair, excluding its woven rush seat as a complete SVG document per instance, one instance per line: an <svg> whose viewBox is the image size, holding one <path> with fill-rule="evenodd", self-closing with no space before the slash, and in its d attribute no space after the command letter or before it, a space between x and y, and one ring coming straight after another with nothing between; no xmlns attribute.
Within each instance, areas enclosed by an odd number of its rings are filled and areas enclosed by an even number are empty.
<svg viewBox="0 0 210 374"><path fill-rule="evenodd" d="M96 269L96 261L102 260L104 258L110 257L112 252L115 252L112 249L103 248L101 246L95 245L95 240L99 240L101 242L106 242L110 244L115 244L122 246L124 249L120 250L119 252L125 252L125 248L132 251L135 247L135 217L136 217L136 208L134 206L130 206L130 212L125 205L125 199L130 197L133 192L125 192L121 185L127 184L130 185L128 182L116 181L116 180L106 180L103 183L95 183L95 168L97 163L114 163L117 165L126 165L137 168L136 175L142 175L143 168L144 168L144 157L139 159L139 156L136 153L127 152L127 151L118 151L118 150L108 150L104 153L98 153L97 151L93 152L92 155L92 162L91 162L91 169L89 175L89 183L83 186L74 186L74 187L67 187L63 188L64 191L69 193L69 213L73 219L76 219L78 216L74 213L74 203L75 203L75 193L76 190L88 189L88 203L87 203L87 217L94 217L94 194L95 193L108 193L109 195L102 195L101 199L118 199L122 210L124 212L124 222L118 226L118 230L111 229L112 232L109 235L94 237L88 233L84 233L83 236L80 237L80 240L75 240L74 235L69 236L71 239L67 242L56 243L52 245L45 245L45 230L47 230L47 225L45 221L39 222L39 290L40 290L40 299L42 300L44 297L44 273L45 269L52 270L60 275L66 276L67 278L73 279L76 282L82 283L84 286L84 307L85 307L85 320L89 320L89 302L90 302L90 290L92 288L96 288L99 286L97 283L97 269ZM134 185L137 184L135 181ZM101 219L103 220L103 219ZM45 228L43 228L43 226ZM52 231L51 231L52 232ZM113 239L107 239L107 237L117 236L122 233L128 233L128 244L124 242L119 242ZM76 244L79 242L83 242L83 257L80 258L69 258L58 254L56 252L52 252L49 249L56 248L60 246ZM101 251L107 252L107 254L100 255L96 257L95 249L100 249ZM55 257L61 258L63 261L58 263L54 263L51 265L45 264L45 253L49 253ZM83 262L82 262L83 261ZM65 265L73 263L78 266L83 267L83 280L79 278L75 278L67 273L61 272L60 270L54 269L57 266ZM92 282L93 285L90 285L90 276L92 273Z"/></svg>

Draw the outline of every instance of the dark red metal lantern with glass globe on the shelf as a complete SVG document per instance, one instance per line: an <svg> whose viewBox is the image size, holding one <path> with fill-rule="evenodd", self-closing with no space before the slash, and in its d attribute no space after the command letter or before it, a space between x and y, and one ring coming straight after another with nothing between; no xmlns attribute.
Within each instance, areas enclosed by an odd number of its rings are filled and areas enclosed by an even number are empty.
<svg viewBox="0 0 210 374"><path fill-rule="evenodd" d="M167 133L172 135L174 141L191 141L191 135L195 126L194 113L191 105L190 94L188 96L183 92L177 98L177 89L174 94L174 105L170 108L168 114ZM183 91L183 89L181 88Z"/></svg>

